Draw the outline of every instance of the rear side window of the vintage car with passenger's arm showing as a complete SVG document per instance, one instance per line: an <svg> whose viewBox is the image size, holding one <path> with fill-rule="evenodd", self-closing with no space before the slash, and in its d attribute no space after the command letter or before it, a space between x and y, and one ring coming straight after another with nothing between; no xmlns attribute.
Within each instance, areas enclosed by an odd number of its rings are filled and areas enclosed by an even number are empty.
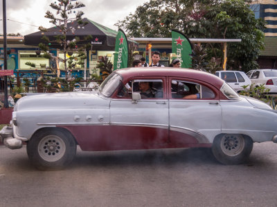
<svg viewBox="0 0 277 207"><path fill-rule="evenodd" d="M214 99L215 93L199 83L173 79L171 81L172 99Z"/></svg>

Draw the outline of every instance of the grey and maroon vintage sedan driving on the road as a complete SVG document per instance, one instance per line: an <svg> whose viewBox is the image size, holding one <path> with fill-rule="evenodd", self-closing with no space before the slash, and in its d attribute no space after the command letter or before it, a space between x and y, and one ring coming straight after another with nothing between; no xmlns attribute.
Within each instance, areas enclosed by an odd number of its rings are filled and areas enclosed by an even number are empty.
<svg viewBox="0 0 277 207"><path fill-rule="evenodd" d="M129 87L127 87L129 85ZM8 148L21 148L37 168L69 164L82 150L211 148L222 164L241 164L253 142L277 142L277 114L241 97L225 81L193 69L125 68L96 92L27 96L17 101Z"/></svg>

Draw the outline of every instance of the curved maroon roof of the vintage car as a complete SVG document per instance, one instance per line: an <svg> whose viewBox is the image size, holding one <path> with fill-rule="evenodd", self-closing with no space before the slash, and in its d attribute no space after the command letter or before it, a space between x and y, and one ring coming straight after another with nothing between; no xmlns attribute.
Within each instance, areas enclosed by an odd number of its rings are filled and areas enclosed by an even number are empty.
<svg viewBox="0 0 277 207"><path fill-rule="evenodd" d="M129 79L129 77L183 77L189 79L195 79L211 83L217 88L221 88L224 81L219 77L199 70L188 69L188 68L124 68L116 70L116 73L120 74L123 79Z"/></svg>

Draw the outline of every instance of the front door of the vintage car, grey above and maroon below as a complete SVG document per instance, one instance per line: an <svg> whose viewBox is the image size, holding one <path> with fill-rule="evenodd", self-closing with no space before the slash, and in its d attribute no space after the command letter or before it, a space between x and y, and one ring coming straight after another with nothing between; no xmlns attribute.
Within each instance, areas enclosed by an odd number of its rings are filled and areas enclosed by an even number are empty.
<svg viewBox="0 0 277 207"><path fill-rule="evenodd" d="M140 93L139 84L149 82L153 97L132 100ZM119 149L162 148L168 143L168 97L164 77L137 77L126 83L111 99L110 124Z"/></svg>

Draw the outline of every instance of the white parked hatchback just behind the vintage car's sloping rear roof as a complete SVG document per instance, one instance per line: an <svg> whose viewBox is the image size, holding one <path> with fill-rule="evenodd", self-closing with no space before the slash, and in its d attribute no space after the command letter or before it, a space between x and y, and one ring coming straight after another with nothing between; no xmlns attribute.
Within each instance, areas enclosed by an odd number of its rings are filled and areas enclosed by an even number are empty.
<svg viewBox="0 0 277 207"><path fill-rule="evenodd" d="M217 77L220 77L222 80L226 81L229 86L233 88L236 92L244 90L242 86L247 86L248 89L251 86L251 80L247 75L242 71L236 70L220 70L215 72Z"/></svg>

